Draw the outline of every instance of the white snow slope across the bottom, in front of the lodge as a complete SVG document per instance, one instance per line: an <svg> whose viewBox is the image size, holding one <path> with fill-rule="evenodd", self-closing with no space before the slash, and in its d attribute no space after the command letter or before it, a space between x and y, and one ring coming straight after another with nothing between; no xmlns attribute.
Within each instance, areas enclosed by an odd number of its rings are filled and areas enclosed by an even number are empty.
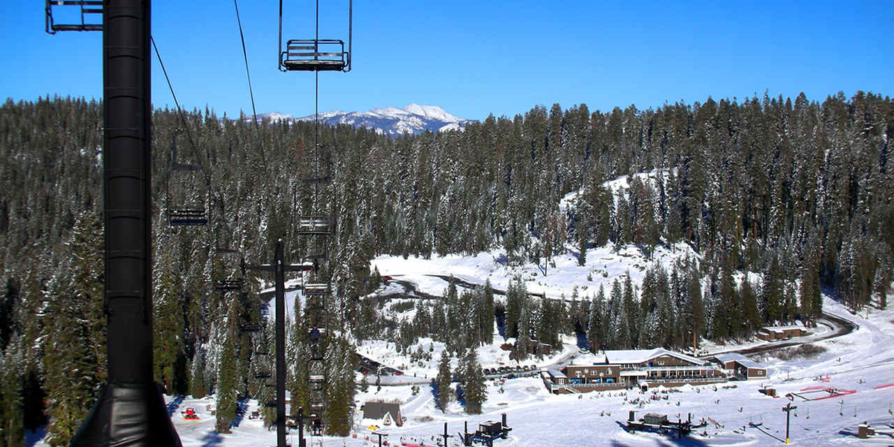
<svg viewBox="0 0 894 447"><path fill-rule="evenodd" d="M409 385L383 386L380 391L370 385L367 392L358 392L357 403L368 400L401 401L401 413L407 417L404 426L383 426L380 431L389 434L391 443L400 444L401 439L407 442L424 440L434 445L432 436L443 432L443 423L448 423L448 432L457 434L468 421L470 429L477 428L479 422L487 419L499 420L501 413L506 413L508 423L513 427L510 437L505 441L497 441L494 445L505 447L539 446L539 445L576 445L576 446L662 446L662 445L777 445L785 438L785 413L782 407L789 403L785 395L789 392L806 390L809 395L811 387L823 386L837 388L841 391L855 391L843 397L817 401L792 402L797 410L791 415L790 438L793 444L809 446L839 445L890 445L894 439L885 434L877 434L871 440L857 440L856 426L868 421L879 432L894 432L887 425L894 422L891 415L894 402L894 310L873 311L869 318L865 315L853 316L839 303L826 298L824 307L827 311L842 316L858 325L854 333L816 342L826 348L814 358L791 358L781 360L772 355L764 358L769 368L769 377L763 382L730 382L736 388L718 386L716 391L712 385L686 386L681 392L658 392L659 396L667 395L668 399L647 400L640 408L629 403L637 398L648 398L653 391L641 394L630 392L586 393L579 395L552 395L544 389L538 378L517 378L502 384L504 392L499 392L501 385L488 385L488 400L485 402L484 414L470 416L462 412L460 404L451 402L446 413L434 408L434 398L430 389L422 385L417 395L412 394ZM442 347L433 343L435 362ZM385 350L384 343L364 345L361 351L375 356ZM483 357L486 357L483 356ZM822 377L822 380L820 378ZM776 387L779 398L772 398L759 392L762 385ZM879 388L882 387L882 388ZM814 393L812 397L822 397L825 392ZM173 398L168 398L173 402ZM224 447L241 447L257 445L274 445L275 432L266 431L259 420L242 419L239 426L234 427L232 434L216 434L214 417L207 413L206 405L213 403L212 398L192 400L186 398L179 402L174 411L174 426L181 435L183 445L206 446L221 445ZM172 405L173 407L173 405ZM199 421L182 420L180 410L185 407L197 409ZM249 402L249 410L257 409L256 402ZM709 423L697 434L684 440L673 440L659 434L628 434L616 421L625 420L628 410L636 409L638 415L646 412L668 414L676 419L678 414L686 418L692 413L694 420L711 417L720 426ZM371 446L376 443L367 441L365 437L371 433L368 426L373 421L362 420L357 416L357 438L314 438L308 445ZM749 422L762 424L749 426ZM297 434L291 435L292 445L298 444ZM451 438L451 445L459 445L456 437Z"/></svg>

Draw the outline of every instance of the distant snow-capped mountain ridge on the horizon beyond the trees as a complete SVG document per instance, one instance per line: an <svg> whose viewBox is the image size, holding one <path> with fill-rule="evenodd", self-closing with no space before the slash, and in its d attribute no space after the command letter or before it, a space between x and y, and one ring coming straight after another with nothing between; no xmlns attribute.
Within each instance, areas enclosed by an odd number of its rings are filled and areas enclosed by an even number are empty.
<svg viewBox="0 0 894 447"><path fill-rule="evenodd" d="M302 116L296 118L290 114L261 114L262 118L269 118L273 121L314 121L314 115ZM354 127L364 127L373 129L376 133L387 134L391 136L400 136L404 132L417 135L424 131L455 131L462 130L466 124L473 122L448 114L443 108L437 105L417 105L410 104L402 108L384 107L373 109L368 112L342 112L333 110L320 114L320 122L330 125L348 124Z"/></svg>

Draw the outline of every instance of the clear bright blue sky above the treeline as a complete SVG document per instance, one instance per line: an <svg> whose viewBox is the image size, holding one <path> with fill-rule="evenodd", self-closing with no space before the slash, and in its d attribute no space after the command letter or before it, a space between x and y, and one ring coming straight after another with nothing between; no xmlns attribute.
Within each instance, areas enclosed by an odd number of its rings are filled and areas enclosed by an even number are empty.
<svg viewBox="0 0 894 447"><path fill-rule="evenodd" d="M347 0L320 38L347 39ZM0 97L102 95L100 33L44 32L43 2L0 16ZM314 75L276 70L279 4L240 2L258 113L314 111ZM283 38L313 38L314 2L284 0ZM232 2L153 4L181 105L251 113ZM483 119L534 105L630 104L839 90L894 96L894 2L369 1L354 4L350 73L320 73L320 111L440 105ZM155 57L153 55L153 57ZM153 103L173 107L157 60Z"/></svg>

